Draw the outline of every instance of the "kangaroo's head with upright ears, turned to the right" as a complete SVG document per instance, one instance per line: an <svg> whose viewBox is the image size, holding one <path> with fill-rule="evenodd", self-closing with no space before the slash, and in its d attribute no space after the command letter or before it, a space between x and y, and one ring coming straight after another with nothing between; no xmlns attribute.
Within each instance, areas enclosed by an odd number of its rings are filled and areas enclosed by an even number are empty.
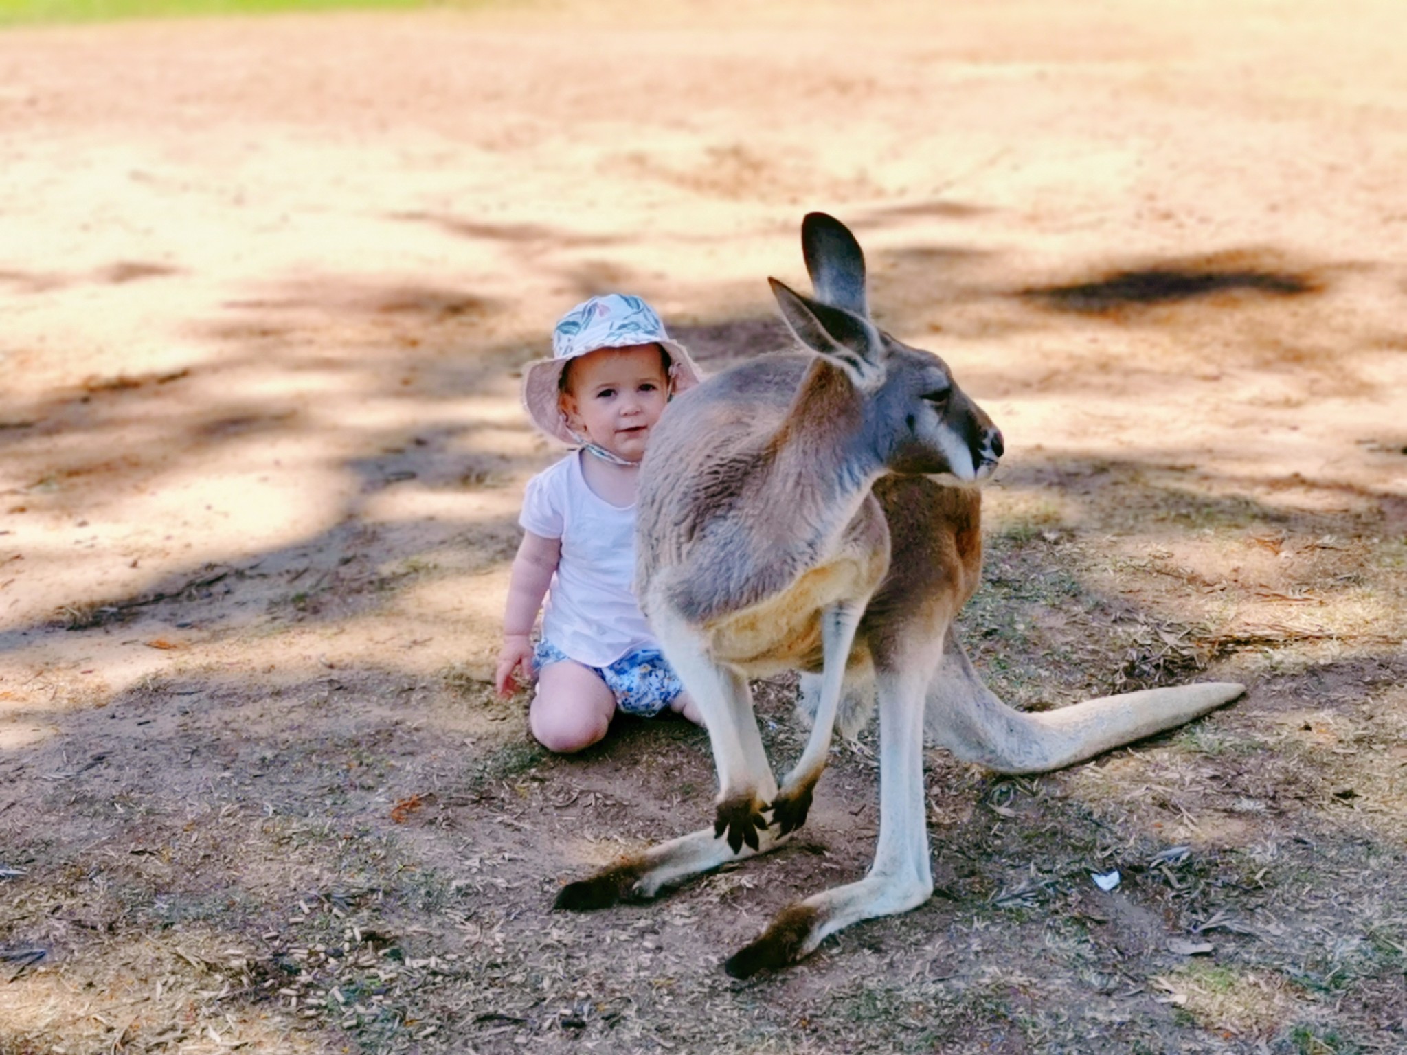
<svg viewBox="0 0 1407 1055"><path fill-rule="evenodd" d="M816 297L771 279L782 318L806 347L854 384L862 443L891 473L983 480L1002 457L1002 433L953 380L947 363L909 347L870 319L865 263L848 228L823 212L802 224Z"/></svg>

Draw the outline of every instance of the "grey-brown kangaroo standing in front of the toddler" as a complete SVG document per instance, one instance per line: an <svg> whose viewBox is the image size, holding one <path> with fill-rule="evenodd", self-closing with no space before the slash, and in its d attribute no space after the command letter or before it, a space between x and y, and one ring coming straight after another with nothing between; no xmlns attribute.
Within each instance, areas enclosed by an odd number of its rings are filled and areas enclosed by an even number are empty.
<svg viewBox="0 0 1407 1055"><path fill-rule="evenodd" d="M879 710L879 837L860 881L784 909L725 969L749 978L858 920L933 893L923 737L1000 772L1072 765L1171 729L1244 692L1231 682L1150 689L1026 715L982 684L953 622L982 563L979 481L1002 433L937 356L870 318L864 253L812 212L802 250L815 297L771 279L803 352L763 356L666 411L640 477L636 587L704 715L715 823L566 885L556 907L647 899L775 847L801 827L837 720ZM803 671L815 710L778 785L749 678ZM867 689L872 686L872 689ZM927 720L926 720L927 715Z"/></svg>

